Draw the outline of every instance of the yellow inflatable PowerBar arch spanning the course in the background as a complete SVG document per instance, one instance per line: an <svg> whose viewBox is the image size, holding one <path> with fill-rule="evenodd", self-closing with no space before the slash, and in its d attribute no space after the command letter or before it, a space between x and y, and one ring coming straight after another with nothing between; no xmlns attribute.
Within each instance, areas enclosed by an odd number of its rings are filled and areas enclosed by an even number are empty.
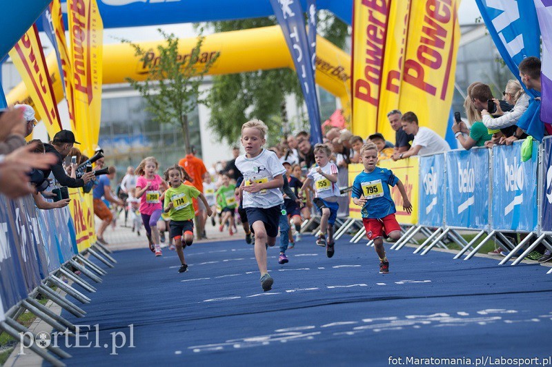
<svg viewBox="0 0 552 367"><path fill-rule="evenodd" d="M155 63L157 45L161 41L139 43L144 50L151 50ZM180 57L189 57L197 39L179 41ZM255 70L269 70L282 67L293 69L284 35L278 25L250 30L221 32L205 37L201 47L199 63L205 63L219 52L219 58L209 70L209 74L235 74ZM46 57L48 70L57 103L63 100L62 80L57 66L55 52ZM144 80L148 70L144 67L130 45L103 45L103 84L125 83L127 77ZM324 39L317 37L316 82L319 86L340 99L344 116L351 111L351 56ZM33 105L25 85L21 82L6 96L8 105L27 103ZM37 116L37 120L40 117Z"/></svg>

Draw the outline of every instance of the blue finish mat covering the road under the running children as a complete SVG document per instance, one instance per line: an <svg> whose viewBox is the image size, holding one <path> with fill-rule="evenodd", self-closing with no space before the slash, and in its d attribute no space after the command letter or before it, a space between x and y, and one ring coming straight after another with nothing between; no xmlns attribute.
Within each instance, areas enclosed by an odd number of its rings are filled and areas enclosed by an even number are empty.
<svg viewBox="0 0 552 367"><path fill-rule="evenodd" d="M305 238L285 265L268 249L275 283L266 293L242 240L194 244L180 274L174 251L116 252L115 269L97 262L108 271L97 293L83 291L92 302L77 302L86 317L63 313L99 324L98 335L81 335L90 347L62 346L73 356L65 362L389 366L433 357L489 366L552 354L552 277L542 266L404 248L388 251L391 273L379 274L373 248L342 239L335 249L328 259Z"/></svg>

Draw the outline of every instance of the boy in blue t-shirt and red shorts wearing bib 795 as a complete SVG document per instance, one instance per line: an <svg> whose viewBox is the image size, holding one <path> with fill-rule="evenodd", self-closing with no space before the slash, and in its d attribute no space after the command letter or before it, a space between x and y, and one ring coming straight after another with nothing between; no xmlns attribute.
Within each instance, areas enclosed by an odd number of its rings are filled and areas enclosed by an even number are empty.
<svg viewBox="0 0 552 367"><path fill-rule="evenodd" d="M368 143L360 149L360 161L364 170L353 182L352 198L355 205L362 207L362 222L368 240L374 241L374 248L380 258L380 274L389 273L389 261L385 255L382 235L398 240L401 227L395 219L395 202L391 198L389 186L397 185L406 213L412 212L412 205L406 196L401 180L392 171L376 167L378 150L374 143Z"/></svg>

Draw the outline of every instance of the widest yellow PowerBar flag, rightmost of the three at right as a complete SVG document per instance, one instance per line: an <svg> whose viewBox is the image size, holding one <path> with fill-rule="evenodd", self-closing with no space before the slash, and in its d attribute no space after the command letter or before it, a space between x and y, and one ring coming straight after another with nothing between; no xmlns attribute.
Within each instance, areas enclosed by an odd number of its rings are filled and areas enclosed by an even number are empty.
<svg viewBox="0 0 552 367"><path fill-rule="evenodd" d="M460 0L412 1L400 85L401 111L445 136L454 92L460 41Z"/></svg>

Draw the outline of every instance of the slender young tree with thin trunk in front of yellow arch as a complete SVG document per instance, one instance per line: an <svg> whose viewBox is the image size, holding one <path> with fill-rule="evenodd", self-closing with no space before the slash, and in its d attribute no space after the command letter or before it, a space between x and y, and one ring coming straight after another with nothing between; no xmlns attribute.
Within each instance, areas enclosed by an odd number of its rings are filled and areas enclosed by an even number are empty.
<svg viewBox="0 0 552 367"><path fill-rule="evenodd" d="M219 54L201 53L204 36L200 32L190 54L179 54L179 39L158 29L165 39L157 50L144 50L140 45L122 39L135 50L135 56L146 65L149 72L144 81L126 78L128 83L146 100L146 110L157 123L179 125L184 136L186 154L191 153L188 114L198 103L208 105L199 86ZM152 55L153 54L153 55Z"/></svg>

